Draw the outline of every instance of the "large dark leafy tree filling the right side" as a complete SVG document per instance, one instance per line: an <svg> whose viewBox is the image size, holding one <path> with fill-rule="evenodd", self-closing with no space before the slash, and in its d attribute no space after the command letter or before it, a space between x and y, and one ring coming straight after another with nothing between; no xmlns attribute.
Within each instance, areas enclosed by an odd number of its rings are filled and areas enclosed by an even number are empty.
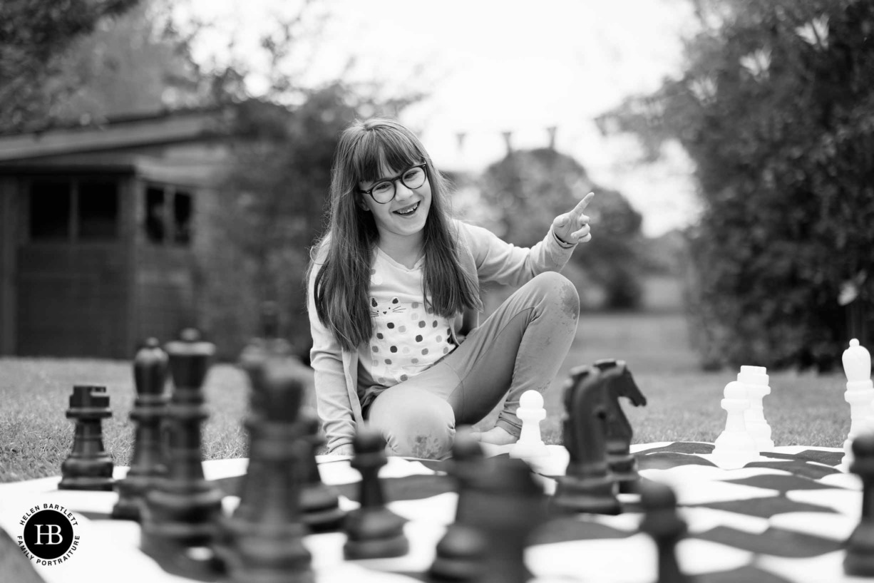
<svg viewBox="0 0 874 583"><path fill-rule="evenodd" d="M683 77L602 124L651 153L679 140L697 164L690 299L705 364L829 369L851 335L874 342L874 5L697 9Z"/></svg>

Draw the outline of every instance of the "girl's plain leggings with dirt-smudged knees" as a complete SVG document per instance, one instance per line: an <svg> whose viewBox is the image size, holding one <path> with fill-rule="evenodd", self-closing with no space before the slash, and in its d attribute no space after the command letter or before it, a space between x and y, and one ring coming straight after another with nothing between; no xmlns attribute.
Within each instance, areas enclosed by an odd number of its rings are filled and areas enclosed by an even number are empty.
<svg viewBox="0 0 874 583"><path fill-rule="evenodd" d="M380 392L365 418L385 436L389 455L440 459L449 455L456 426L482 420L506 395L496 426L518 437L519 398L549 388L578 319L572 283L539 274L434 366Z"/></svg>

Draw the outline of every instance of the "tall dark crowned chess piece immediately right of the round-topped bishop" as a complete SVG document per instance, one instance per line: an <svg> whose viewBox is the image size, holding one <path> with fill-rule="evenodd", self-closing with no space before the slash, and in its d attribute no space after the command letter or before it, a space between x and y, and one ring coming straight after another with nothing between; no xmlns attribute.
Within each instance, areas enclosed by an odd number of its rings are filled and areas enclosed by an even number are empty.
<svg viewBox="0 0 874 583"><path fill-rule="evenodd" d="M202 342L197 330L184 330L182 339L165 346L170 357L173 392L170 457L165 478L146 494L142 506L140 546L165 570L201 576L215 569L214 558L191 553L208 547L218 536L221 489L204 478L201 426L209 416L203 385L215 345Z"/></svg>

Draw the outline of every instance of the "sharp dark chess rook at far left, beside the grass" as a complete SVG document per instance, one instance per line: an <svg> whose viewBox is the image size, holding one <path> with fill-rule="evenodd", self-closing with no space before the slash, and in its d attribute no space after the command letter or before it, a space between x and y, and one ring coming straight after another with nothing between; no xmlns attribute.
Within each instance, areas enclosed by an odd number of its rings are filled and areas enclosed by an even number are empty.
<svg viewBox="0 0 874 583"><path fill-rule="evenodd" d="M73 452L60 465L59 489L113 489L113 461L103 448L101 420L112 417L105 386L75 385L68 419L75 420Z"/></svg>

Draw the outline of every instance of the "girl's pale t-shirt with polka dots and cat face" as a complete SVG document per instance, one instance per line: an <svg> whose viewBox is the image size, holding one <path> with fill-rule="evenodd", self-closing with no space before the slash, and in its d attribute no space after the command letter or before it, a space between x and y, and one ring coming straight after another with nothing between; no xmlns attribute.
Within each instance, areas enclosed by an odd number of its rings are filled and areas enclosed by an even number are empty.
<svg viewBox="0 0 874 583"><path fill-rule="evenodd" d="M450 322L426 309L422 265L408 269L377 249L368 295L373 336L358 350L359 385L389 387L427 370L454 350Z"/></svg>

